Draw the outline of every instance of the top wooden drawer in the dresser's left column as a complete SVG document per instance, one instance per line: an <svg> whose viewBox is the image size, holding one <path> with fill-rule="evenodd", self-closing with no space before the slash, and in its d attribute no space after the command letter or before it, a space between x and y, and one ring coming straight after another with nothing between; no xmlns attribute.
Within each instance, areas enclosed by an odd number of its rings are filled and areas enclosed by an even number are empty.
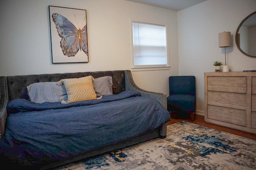
<svg viewBox="0 0 256 170"><path fill-rule="evenodd" d="M208 90L246 94L246 77L208 76Z"/></svg>

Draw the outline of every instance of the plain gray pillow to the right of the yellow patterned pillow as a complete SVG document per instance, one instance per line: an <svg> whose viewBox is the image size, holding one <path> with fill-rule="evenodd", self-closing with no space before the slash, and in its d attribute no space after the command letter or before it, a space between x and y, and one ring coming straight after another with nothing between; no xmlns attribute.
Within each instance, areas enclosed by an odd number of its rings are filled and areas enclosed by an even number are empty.
<svg viewBox="0 0 256 170"><path fill-rule="evenodd" d="M113 94L113 82L111 76L94 78L94 80L92 80L92 84L94 87L94 91L96 92L97 98L100 96L107 96Z"/></svg>

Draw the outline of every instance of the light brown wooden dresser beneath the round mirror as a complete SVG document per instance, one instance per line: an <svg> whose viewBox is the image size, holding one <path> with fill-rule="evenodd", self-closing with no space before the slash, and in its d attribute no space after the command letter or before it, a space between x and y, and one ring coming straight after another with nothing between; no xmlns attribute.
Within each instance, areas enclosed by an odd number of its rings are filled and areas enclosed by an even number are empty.
<svg viewBox="0 0 256 170"><path fill-rule="evenodd" d="M256 72L205 72L204 121L256 134Z"/></svg>

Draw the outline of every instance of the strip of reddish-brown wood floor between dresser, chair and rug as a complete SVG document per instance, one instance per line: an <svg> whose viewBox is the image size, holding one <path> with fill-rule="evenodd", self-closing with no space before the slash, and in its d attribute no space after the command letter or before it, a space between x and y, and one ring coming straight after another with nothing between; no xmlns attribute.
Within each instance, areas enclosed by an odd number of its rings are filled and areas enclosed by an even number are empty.
<svg viewBox="0 0 256 170"><path fill-rule="evenodd" d="M247 138L256 140L256 134L247 133L247 132L243 132L243 131L238 131L238 130L235 130L235 129L230 129L230 128L227 128L227 127L218 126L218 125L214 125L214 124L211 124L211 123L206 123L204 121L204 116L202 116L202 115L196 115L195 120L192 121L189 114L180 116L180 115L176 115L175 113L171 113L171 121L169 121L167 123L167 125L170 125L170 124L173 124L173 123L178 123L180 121L187 121L187 122L190 122L190 123L195 123L195 124L198 124L198 125L210 127L212 129L217 129L219 131L224 131L224 132L228 132L228 133L232 133L232 134L235 134L235 135L239 135L239 136L242 136L242 137L247 137Z"/></svg>

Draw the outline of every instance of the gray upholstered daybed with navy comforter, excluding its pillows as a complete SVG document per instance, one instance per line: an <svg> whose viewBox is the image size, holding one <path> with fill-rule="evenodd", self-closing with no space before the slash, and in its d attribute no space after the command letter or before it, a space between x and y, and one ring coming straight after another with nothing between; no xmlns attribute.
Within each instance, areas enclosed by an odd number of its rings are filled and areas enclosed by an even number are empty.
<svg viewBox="0 0 256 170"><path fill-rule="evenodd" d="M68 100L37 102L28 88L88 76L92 83L111 78L112 92L72 102L64 84ZM166 137L166 94L142 90L130 70L2 76L0 82L0 153L8 167L49 169Z"/></svg>

